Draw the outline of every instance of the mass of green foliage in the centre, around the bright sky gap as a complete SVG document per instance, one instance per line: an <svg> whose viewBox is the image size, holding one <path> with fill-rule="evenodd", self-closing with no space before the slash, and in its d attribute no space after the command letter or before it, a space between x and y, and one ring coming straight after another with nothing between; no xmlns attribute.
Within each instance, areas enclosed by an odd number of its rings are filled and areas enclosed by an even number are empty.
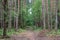
<svg viewBox="0 0 60 40"><path fill-rule="evenodd" d="M23 21L22 25L26 26L33 26L35 25L35 20L36 22L40 22L41 16L42 16L42 0L36 0L32 3L28 3L25 6L22 6L22 1L21 1L21 13L20 13L20 18ZM31 14L30 14L31 11ZM23 26L25 28L25 26Z"/></svg>

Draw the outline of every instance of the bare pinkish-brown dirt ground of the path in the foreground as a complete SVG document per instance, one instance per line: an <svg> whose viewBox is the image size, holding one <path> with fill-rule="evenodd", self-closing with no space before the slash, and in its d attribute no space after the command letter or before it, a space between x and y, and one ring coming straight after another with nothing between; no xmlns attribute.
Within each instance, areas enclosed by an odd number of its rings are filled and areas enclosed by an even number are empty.
<svg viewBox="0 0 60 40"><path fill-rule="evenodd" d="M26 31L12 35L9 39L0 40L60 40L60 36L46 36L48 31Z"/></svg>

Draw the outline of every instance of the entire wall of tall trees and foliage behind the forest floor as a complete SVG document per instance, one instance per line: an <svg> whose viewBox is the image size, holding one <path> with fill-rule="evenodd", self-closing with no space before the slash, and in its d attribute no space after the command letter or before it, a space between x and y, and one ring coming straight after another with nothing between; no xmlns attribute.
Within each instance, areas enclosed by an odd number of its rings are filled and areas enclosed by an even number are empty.
<svg viewBox="0 0 60 40"><path fill-rule="evenodd" d="M0 0L0 28L3 36L14 28L60 27L59 0Z"/></svg>

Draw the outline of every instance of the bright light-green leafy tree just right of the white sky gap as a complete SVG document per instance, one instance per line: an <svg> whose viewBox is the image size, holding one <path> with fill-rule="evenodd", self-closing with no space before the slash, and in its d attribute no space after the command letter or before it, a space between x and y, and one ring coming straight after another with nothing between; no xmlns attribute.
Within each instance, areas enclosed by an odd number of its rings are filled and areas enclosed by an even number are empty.
<svg viewBox="0 0 60 40"><path fill-rule="evenodd" d="M34 1L34 4L32 6L32 12L33 16L37 19L37 21L40 21L40 17L42 16L42 2L41 0Z"/></svg>

